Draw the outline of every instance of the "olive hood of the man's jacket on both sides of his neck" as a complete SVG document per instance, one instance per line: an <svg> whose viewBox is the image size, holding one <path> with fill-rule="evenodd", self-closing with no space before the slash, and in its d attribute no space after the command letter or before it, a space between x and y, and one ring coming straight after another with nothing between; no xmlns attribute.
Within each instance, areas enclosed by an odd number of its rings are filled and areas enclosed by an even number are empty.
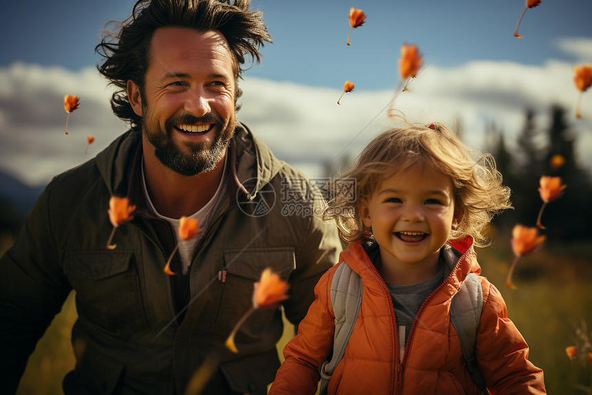
<svg viewBox="0 0 592 395"><path fill-rule="evenodd" d="M134 157L141 144L141 132L128 130L96 155L96 164L110 194L128 196ZM237 123L229 152L231 192L244 192L247 200L253 199L284 164L242 123Z"/></svg>

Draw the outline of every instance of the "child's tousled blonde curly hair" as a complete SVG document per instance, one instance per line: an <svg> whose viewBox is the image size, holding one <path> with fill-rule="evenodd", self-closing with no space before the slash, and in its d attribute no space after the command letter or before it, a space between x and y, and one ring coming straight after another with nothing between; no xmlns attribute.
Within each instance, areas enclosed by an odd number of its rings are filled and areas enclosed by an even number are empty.
<svg viewBox="0 0 592 395"><path fill-rule="evenodd" d="M463 213L450 239L469 235L476 246L485 246L488 241L483 232L491 218L511 208L510 190L502 185L493 156L484 154L474 160L474 154L441 123L386 130L370 141L351 170L327 185L331 199L323 218L337 221L344 241L360 240L369 231L361 218L361 200L370 199L385 176L413 165L431 165L450 176L454 205ZM343 194L343 184L353 181L355 196Z"/></svg>

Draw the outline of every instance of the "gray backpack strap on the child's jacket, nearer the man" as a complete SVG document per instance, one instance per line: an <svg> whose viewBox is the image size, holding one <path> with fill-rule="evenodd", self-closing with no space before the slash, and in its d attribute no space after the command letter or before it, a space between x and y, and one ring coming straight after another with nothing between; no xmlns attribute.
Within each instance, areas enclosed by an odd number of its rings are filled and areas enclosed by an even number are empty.
<svg viewBox="0 0 592 395"><path fill-rule="evenodd" d="M333 312L335 312L333 352L330 361L325 360L319 367L321 374L320 395L327 393L327 386L333 371L346 352L362 303L362 289L359 274L354 272L346 262L340 263L331 282L331 304Z"/></svg>

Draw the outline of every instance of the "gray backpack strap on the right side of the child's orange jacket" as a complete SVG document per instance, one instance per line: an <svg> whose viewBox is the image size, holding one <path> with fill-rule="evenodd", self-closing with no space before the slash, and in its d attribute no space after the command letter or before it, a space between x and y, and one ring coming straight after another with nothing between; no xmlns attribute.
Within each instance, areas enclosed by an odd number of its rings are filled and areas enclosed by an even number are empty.
<svg viewBox="0 0 592 395"><path fill-rule="evenodd" d="M489 394L475 356L477 327L481 319L482 308L483 290L481 290L481 282L476 274L469 273L465 281L463 281L461 289L452 298L450 320L461 341L463 357L465 358L465 363L467 364L467 369L471 374L473 382L483 394Z"/></svg>

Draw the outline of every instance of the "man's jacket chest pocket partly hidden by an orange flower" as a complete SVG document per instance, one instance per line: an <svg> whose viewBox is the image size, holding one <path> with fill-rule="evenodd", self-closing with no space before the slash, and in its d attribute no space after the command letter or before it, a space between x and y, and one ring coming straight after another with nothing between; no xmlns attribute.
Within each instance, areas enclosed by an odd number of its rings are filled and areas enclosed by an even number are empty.
<svg viewBox="0 0 592 395"><path fill-rule="evenodd" d="M242 316L253 305L253 289L261 273L270 267L282 279L288 281L295 269L296 261L292 248L262 250L224 251L224 292L217 324L229 333ZM260 333L266 323L273 319L274 309L260 309L242 325L243 334Z"/></svg>

